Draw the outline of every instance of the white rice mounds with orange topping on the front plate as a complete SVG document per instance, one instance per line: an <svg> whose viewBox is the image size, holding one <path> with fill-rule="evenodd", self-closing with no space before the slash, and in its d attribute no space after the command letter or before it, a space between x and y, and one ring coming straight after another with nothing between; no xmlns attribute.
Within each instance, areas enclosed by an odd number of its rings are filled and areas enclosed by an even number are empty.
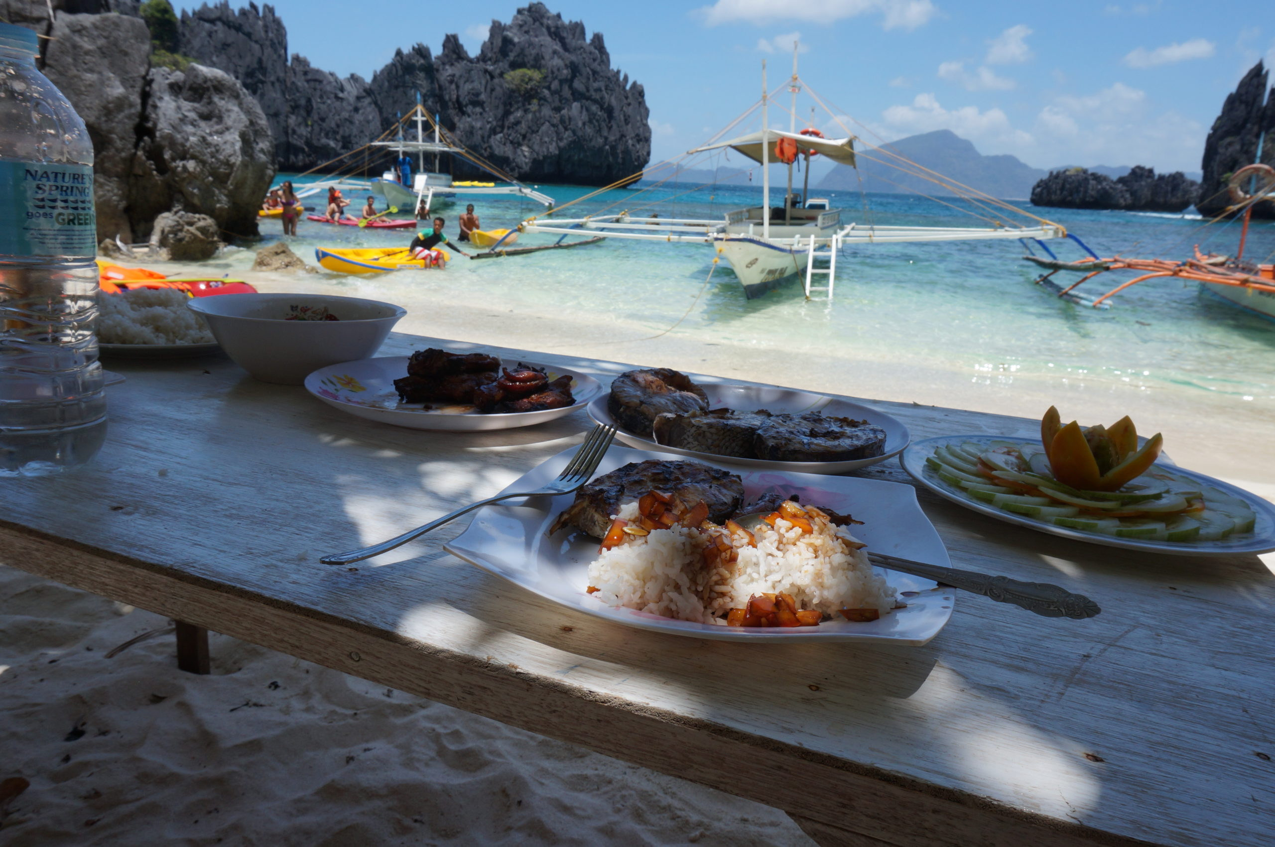
<svg viewBox="0 0 1275 847"><path fill-rule="evenodd" d="M636 520L638 504L626 503L615 517ZM701 624L724 624L725 614L742 608L752 594L780 592L792 594L798 608L825 615L840 608L890 611L895 589L872 569L849 529L813 513L810 522L813 533L778 519L774 529L754 533L756 547L737 534L732 543L738 560L718 566L704 564L708 536L699 529L627 536L589 565L589 584L598 589L594 598L608 606Z"/></svg>

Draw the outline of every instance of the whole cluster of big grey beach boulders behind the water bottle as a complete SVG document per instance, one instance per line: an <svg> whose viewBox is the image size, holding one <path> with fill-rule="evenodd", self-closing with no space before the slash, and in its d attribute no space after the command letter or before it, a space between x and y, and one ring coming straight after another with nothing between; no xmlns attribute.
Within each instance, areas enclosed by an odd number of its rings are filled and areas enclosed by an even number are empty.
<svg viewBox="0 0 1275 847"><path fill-rule="evenodd" d="M136 11L136 0L0 0L0 17L47 36L41 68L93 139L98 239L145 239L164 212L256 235L274 179L256 99L218 70L152 68Z"/></svg>

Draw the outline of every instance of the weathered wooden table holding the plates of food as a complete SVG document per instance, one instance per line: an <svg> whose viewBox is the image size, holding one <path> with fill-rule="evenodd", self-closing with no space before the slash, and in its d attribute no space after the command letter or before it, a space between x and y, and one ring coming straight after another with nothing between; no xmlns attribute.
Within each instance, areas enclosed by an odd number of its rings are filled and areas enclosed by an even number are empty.
<svg viewBox="0 0 1275 847"><path fill-rule="evenodd" d="M820 844L1275 844L1275 577L1257 556L1122 552L922 491L955 565L1103 614L961 596L923 648L676 638L453 559L465 520L375 563L317 561L496 492L579 441L583 413L421 432L224 358L111 367L127 381L96 463L0 482L4 564L778 806ZM880 406L913 438L1034 426ZM895 460L864 475L908 482Z"/></svg>

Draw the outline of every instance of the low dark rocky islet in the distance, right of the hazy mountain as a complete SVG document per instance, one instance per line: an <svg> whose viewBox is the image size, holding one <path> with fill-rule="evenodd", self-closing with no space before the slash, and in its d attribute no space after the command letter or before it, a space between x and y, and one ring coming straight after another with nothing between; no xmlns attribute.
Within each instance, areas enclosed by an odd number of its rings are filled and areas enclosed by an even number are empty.
<svg viewBox="0 0 1275 847"><path fill-rule="evenodd" d="M1113 180L1077 167L1053 171L1031 186L1031 204L1065 209L1183 212L1198 193L1200 184L1182 171L1156 176L1154 168L1139 165Z"/></svg>

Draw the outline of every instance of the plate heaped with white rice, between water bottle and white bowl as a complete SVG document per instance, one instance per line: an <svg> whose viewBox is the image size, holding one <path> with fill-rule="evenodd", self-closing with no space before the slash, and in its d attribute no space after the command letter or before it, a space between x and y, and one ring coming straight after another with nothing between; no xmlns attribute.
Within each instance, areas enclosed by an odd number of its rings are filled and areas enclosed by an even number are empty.
<svg viewBox="0 0 1275 847"><path fill-rule="evenodd" d="M130 358L205 356L221 350L204 319L176 288L136 288L98 297L98 350Z"/></svg>

